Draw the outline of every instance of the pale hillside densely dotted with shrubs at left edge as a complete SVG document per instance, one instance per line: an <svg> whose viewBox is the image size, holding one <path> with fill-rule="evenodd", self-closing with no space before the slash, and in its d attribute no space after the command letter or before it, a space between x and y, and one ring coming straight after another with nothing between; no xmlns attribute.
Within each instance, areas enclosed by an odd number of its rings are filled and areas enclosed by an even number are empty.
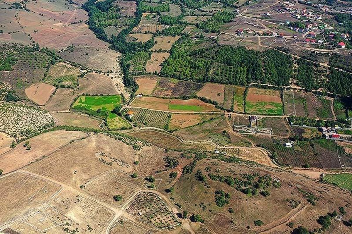
<svg viewBox="0 0 352 234"><path fill-rule="evenodd" d="M54 118L43 109L0 103L0 132L23 139L55 125Z"/></svg>

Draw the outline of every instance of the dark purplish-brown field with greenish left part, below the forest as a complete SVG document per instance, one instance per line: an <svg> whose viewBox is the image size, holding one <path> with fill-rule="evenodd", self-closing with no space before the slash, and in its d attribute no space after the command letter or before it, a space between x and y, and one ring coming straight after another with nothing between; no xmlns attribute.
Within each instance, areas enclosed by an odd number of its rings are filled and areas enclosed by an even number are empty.
<svg viewBox="0 0 352 234"><path fill-rule="evenodd" d="M152 95L162 97L190 96L202 87L203 84L200 83L159 78Z"/></svg>

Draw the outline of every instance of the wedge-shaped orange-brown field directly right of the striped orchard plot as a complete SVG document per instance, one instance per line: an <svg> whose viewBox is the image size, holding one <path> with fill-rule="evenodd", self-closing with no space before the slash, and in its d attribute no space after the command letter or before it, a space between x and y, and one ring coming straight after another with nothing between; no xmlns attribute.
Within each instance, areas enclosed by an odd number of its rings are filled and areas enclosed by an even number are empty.
<svg viewBox="0 0 352 234"><path fill-rule="evenodd" d="M171 114L169 129L186 128L217 117L216 114Z"/></svg>

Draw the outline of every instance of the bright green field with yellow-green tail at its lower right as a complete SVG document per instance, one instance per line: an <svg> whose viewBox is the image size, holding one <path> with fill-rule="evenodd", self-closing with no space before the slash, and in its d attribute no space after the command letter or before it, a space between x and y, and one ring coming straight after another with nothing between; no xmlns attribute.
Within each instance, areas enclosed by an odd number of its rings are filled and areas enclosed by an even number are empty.
<svg viewBox="0 0 352 234"><path fill-rule="evenodd" d="M80 96L72 105L72 108L87 114L106 118L110 130L129 128L130 124L111 111L121 104L120 95L111 96Z"/></svg>

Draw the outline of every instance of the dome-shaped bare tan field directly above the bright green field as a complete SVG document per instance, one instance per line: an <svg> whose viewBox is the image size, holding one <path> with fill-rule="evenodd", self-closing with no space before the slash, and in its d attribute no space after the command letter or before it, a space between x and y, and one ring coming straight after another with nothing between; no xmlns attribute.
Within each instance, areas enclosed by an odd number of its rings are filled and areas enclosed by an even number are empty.
<svg viewBox="0 0 352 234"><path fill-rule="evenodd" d="M88 94L120 94L114 80L107 75L99 73L88 73L84 78L78 80L80 93Z"/></svg>

